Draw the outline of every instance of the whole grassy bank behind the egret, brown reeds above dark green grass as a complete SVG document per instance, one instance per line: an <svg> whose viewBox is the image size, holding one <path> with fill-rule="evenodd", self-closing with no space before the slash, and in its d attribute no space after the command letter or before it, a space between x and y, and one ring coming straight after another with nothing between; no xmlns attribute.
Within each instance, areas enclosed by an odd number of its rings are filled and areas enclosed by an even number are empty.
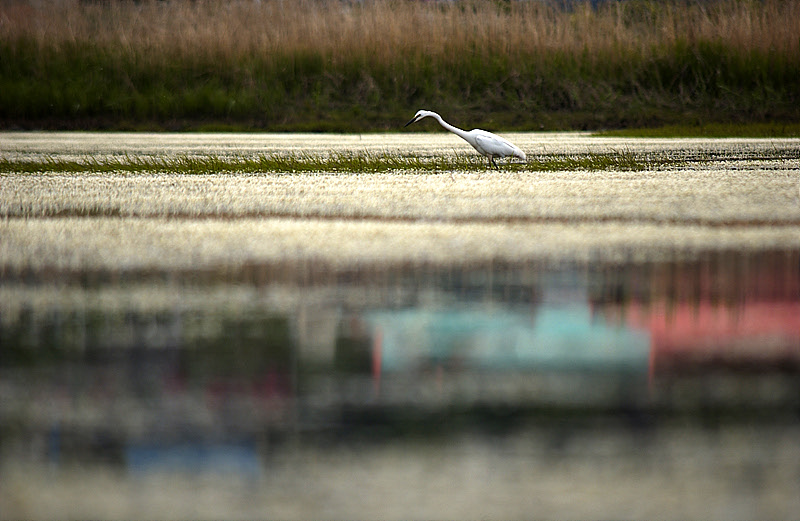
<svg viewBox="0 0 800 521"><path fill-rule="evenodd" d="M796 0L5 2L0 122L365 131L427 107L494 129L792 123L798 34Z"/></svg>

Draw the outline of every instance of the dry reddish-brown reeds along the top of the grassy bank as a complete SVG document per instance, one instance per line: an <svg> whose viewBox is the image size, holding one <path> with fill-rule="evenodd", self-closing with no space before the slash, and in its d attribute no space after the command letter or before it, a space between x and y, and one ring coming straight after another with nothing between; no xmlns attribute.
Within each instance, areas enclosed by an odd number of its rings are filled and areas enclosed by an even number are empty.
<svg viewBox="0 0 800 521"><path fill-rule="evenodd" d="M93 41L142 58L208 54L226 61L241 55L320 52L336 61L357 53L391 63L409 53L454 56L535 55L630 49L677 41L717 41L743 51L797 52L800 2L589 3L571 11L545 2L420 4L227 1L7 2L0 37L26 36L42 45ZM155 54L153 54L155 53Z"/></svg>

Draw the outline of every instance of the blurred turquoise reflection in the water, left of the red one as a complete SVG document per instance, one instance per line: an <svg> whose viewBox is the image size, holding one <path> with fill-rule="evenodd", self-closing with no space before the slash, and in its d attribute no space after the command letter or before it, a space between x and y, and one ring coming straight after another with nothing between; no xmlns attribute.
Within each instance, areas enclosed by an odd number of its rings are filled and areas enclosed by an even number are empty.
<svg viewBox="0 0 800 521"><path fill-rule="evenodd" d="M382 371L473 369L646 372L650 337L608 324L585 304L510 309L404 309L368 314Z"/></svg>

